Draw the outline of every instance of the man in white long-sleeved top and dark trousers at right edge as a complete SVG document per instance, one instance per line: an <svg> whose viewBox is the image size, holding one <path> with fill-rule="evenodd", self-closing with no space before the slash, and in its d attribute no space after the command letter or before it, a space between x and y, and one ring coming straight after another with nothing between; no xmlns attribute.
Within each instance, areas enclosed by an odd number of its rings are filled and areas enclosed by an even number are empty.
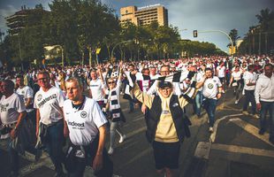
<svg viewBox="0 0 274 177"><path fill-rule="evenodd" d="M273 65L264 65L264 73L259 76L255 87L255 101L260 113L260 131L263 135L267 129L266 114L270 113L270 142L274 144L274 74Z"/></svg>

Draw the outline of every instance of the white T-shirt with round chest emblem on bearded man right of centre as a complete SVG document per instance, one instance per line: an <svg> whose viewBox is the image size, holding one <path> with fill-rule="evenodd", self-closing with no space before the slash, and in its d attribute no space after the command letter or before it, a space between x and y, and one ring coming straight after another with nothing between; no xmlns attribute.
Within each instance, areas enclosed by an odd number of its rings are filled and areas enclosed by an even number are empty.
<svg viewBox="0 0 274 177"><path fill-rule="evenodd" d="M222 83L217 76L213 76L213 78L204 81L202 95L210 99L217 99L218 87L222 87Z"/></svg>

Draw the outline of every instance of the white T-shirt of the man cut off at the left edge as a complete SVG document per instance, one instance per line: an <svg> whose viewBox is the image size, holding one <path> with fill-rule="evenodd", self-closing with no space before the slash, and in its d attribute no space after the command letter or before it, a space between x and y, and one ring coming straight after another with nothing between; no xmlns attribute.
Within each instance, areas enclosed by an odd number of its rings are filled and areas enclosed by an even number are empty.
<svg viewBox="0 0 274 177"><path fill-rule="evenodd" d="M4 125L17 122L19 113L26 111L24 100L22 99L22 96L19 96L17 93L13 93L8 98L2 96L0 107L0 118Z"/></svg>

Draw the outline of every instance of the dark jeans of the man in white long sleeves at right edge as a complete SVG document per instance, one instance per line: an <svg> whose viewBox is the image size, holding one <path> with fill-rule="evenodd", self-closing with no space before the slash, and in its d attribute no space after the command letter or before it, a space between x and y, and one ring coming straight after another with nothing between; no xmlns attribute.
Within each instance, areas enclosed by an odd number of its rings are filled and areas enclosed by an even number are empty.
<svg viewBox="0 0 274 177"><path fill-rule="evenodd" d="M260 127L264 131L267 129L266 115L270 113L270 140L274 141L274 102L260 101L262 107L260 112Z"/></svg>

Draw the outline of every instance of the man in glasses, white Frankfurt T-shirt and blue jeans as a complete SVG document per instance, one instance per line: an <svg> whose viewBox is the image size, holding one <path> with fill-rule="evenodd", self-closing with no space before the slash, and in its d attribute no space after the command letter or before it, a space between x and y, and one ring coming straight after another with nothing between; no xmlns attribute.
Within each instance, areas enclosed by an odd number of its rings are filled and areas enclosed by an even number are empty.
<svg viewBox="0 0 274 177"><path fill-rule="evenodd" d="M63 143L64 94L61 89L50 85L49 73L40 72L37 75L40 90L34 96L34 108L36 109L36 135L42 140L49 153L49 158L55 165L57 177L64 176L62 162L64 160Z"/></svg>

